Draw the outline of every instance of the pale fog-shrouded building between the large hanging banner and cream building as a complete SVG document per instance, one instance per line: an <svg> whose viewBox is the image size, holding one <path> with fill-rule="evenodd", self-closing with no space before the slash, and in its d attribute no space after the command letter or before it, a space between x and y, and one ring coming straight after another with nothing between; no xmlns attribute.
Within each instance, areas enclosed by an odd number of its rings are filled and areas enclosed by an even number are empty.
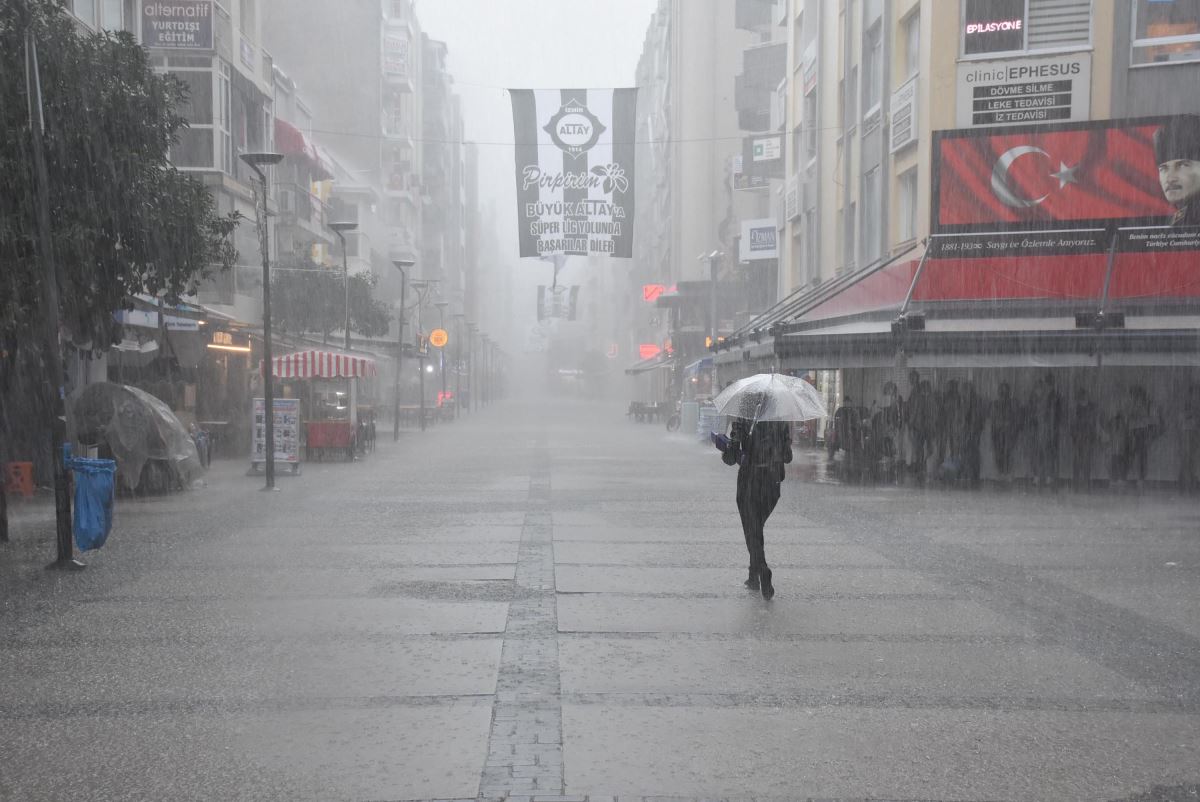
<svg viewBox="0 0 1200 802"><path fill-rule="evenodd" d="M636 341L619 343L630 354L658 347L678 353L682 365L706 355L714 328L710 264L698 255L724 255L715 328L732 330L749 311L746 281L754 276L738 259L740 222L767 216L770 199L736 190L734 169L744 126L769 126L770 92L761 90L782 78L785 53L772 46L769 29L739 26L738 13L737 4L719 0L664 0L647 30L636 76L641 231L628 292L648 309L635 316ZM758 110L764 97L766 118L757 118L750 107ZM642 288L652 285L673 291L647 300ZM773 299L775 289L763 294ZM659 366L642 361L628 371Z"/></svg>

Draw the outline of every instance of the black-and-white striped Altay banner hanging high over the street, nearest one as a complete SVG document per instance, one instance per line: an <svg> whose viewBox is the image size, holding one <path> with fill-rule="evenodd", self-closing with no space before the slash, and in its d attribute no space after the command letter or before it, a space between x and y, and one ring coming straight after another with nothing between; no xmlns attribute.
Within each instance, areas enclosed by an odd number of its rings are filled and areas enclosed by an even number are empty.
<svg viewBox="0 0 1200 802"><path fill-rule="evenodd" d="M634 256L636 89L511 89L521 256Z"/></svg>

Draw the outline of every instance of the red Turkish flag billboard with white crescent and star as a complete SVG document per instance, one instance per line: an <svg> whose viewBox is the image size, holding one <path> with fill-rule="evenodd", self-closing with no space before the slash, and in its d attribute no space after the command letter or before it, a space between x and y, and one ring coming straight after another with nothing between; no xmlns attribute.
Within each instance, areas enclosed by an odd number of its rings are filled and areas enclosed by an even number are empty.
<svg viewBox="0 0 1200 802"><path fill-rule="evenodd" d="M934 233L1170 225L1156 133L1171 120L935 132Z"/></svg>

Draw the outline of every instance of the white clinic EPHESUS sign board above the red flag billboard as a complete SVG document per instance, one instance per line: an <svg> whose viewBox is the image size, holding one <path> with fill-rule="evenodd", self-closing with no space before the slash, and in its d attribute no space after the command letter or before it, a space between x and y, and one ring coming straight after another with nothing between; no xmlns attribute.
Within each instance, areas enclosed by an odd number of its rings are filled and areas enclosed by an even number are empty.
<svg viewBox="0 0 1200 802"><path fill-rule="evenodd" d="M1091 90L1091 53L960 61L955 122L966 128L1086 120Z"/></svg>

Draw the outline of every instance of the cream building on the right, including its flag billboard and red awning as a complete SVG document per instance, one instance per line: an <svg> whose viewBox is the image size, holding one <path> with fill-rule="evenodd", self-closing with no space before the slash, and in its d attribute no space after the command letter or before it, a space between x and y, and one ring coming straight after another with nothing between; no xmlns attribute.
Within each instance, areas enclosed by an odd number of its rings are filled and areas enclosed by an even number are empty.
<svg viewBox="0 0 1200 802"><path fill-rule="evenodd" d="M1162 435L1200 378L1200 261L1163 228L1154 162L1175 152L1160 138L1196 127L1166 118L1200 113L1200 8L792 0L786 19L790 293L719 349L721 381L808 372L864 414L910 376L940 409L1007 385L1031 423L1049 382L1099 405L1112 467L1097 456L1084 474L1129 475L1120 431L1136 406L1159 421L1136 478L1172 480L1180 438ZM1069 473L1066 424L1043 426L1051 465L1037 465L1045 437L1022 435L1015 469Z"/></svg>

